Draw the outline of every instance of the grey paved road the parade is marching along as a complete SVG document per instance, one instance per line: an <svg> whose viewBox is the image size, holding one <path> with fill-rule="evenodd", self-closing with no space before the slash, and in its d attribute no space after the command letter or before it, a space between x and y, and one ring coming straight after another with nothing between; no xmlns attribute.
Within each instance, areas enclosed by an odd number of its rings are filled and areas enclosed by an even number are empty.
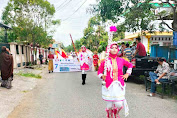
<svg viewBox="0 0 177 118"><path fill-rule="evenodd" d="M52 73L27 94L8 118L106 118L101 84L95 72L89 72L81 85L81 73ZM143 85L127 83L130 108L127 118L177 118L177 102L169 98L150 98ZM124 110L121 111L124 118Z"/></svg>

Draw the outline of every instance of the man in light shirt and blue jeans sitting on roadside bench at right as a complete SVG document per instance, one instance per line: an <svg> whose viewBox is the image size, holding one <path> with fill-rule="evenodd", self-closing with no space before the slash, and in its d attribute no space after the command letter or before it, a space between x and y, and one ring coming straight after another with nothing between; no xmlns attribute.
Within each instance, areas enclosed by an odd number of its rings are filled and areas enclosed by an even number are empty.
<svg viewBox="0 0 177 118"><path fill-rule="evenodd" d="M157 62L159 63L157 70L155 72L149 72L151 78L151 93L148 96L150 97L155 96L156 84L168 81L170 74L170 66L164 59L157 58Z"/></svg>

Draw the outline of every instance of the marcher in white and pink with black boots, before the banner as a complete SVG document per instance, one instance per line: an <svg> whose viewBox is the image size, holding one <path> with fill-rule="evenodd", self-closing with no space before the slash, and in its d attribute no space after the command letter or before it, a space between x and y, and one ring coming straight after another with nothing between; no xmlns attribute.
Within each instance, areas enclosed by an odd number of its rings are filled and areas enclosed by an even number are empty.
<svg viewBox="0 0 177 118"><path fill-rule="evenodd" d="M82 85L85 84L86 80L86 72L89 70L88 59L90 58L89 54L86 52L86 47L83 45L81 47L82 52L78 55L80 63L81 63L81 70L82 70Z"/></svg>

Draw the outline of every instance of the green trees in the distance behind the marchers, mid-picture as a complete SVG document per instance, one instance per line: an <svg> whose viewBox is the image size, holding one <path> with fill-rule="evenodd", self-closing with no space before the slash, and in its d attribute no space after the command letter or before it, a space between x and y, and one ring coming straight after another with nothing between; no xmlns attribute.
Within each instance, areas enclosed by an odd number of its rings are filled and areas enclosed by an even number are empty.
<svg viewBox="0 0 177 118"><path fill-rule="evenodd" d="M87 28L84 29L84 36L80 40L74 42L76 50L79 51L82 45L91 51L103 51L106 49L108 41L108 35L105 31L105 27L101 26L98 16L92 17L88 21ZM72 44L65 48L67 52L74 51Z"/></svg>

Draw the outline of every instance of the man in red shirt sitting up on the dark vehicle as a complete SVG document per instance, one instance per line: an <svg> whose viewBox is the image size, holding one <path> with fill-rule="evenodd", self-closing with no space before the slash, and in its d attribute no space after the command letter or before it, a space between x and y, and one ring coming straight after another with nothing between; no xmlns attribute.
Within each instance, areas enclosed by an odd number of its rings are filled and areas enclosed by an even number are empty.
<svg viewBox="0 0 177 118"><path fill-rule="evenodd" d="M137 43L137 47L136 47L136 51L134 53L134 56L138 57L138 58L145 57L146 56L146 49L145 49L144 45L141 43L141 39L136 38L136 43Z"/></svg>

